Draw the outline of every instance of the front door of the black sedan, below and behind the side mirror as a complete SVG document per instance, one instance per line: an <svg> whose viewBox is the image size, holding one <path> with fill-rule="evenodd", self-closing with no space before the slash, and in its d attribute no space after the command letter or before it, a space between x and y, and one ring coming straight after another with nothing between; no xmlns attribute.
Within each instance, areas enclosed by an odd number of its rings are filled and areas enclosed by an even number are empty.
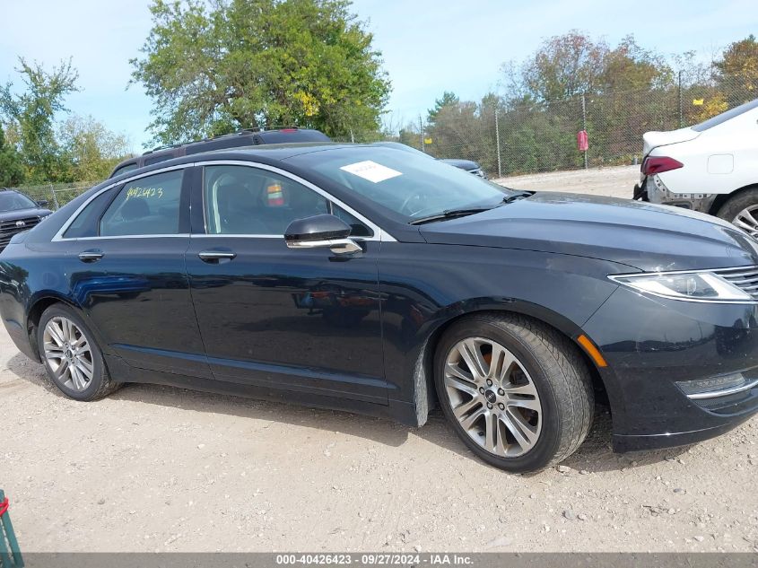
<svg viewBox="0 0 758 568"><path fill-rule="evenodd" d="M193 205L202 233L187 273L205 352L218 380L387 404L378 237L316 188L263 166L206 166ZM295 219L334 213L365 251L288 249Z"/></svg>

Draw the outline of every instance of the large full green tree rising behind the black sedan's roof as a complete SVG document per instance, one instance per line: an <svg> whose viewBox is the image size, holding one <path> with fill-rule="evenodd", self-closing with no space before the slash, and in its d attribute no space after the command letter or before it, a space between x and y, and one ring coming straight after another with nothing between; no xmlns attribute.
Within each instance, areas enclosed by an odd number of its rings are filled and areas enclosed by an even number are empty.
<svg viewBox="0 0 758 568"><path fill-rule="evenodd" d="M349 0L153 0L131 61L156 141L297 124L378 132L390 83Z"/></svg>

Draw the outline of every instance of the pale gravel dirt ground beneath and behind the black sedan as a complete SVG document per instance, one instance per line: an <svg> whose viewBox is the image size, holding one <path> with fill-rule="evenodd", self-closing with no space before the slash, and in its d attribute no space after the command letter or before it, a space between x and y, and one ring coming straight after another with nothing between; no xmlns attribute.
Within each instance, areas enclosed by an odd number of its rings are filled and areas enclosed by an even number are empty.
<svg viewBox="0 0 758 568"><path fill-rule="evenodd" d="M627 195L636 169L508 180ZM622 191L623 190L623 191ZM618 455L607 409L560 468L486 466L420 429L130 385L64 398L0 329L0 487L32 551L758 551L758 419Z"/></svg>

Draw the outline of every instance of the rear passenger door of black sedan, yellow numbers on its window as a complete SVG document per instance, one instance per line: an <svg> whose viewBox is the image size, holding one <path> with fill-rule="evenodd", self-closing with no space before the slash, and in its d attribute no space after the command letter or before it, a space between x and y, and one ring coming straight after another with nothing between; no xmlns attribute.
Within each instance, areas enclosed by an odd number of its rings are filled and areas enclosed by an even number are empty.
<svg viewBox="0 0 758 568"><path fill-rule="evenodd" d="M211 378L189 291L184 170L95 197L63 233L74 298L130 365Z"/></svg>

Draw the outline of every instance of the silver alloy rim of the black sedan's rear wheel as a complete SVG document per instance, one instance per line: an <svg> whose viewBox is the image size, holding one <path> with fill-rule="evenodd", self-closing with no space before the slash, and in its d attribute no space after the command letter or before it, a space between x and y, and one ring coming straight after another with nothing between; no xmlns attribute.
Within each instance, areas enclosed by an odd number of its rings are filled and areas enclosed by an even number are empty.
<svg viewBox="0 0 758 568"><path fill-rule="evenodd" d="M63 386L76 391L90 386L94 374L90 342L71 319L51 318L42 340L50 370Z"/></svg>

